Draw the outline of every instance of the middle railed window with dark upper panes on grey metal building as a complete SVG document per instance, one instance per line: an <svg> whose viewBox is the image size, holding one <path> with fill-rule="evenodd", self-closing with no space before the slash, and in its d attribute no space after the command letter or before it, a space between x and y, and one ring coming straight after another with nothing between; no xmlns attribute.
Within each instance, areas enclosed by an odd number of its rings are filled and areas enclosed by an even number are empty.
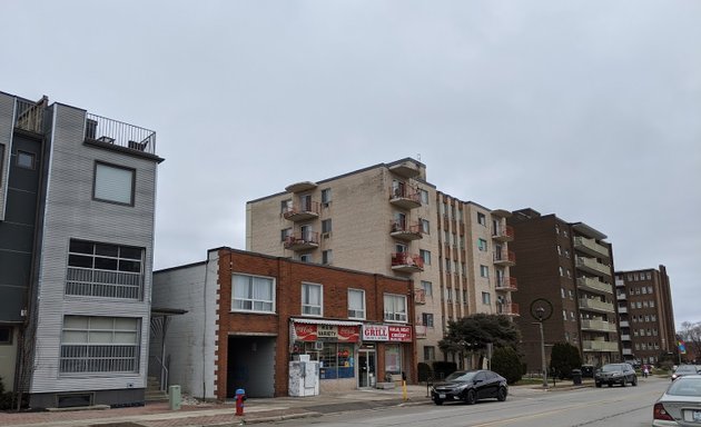
<svg viewBox="0 0 701 427"><path fill-rule="evenodd" d="M140 299L144 252L131 246L71 239L66 295Z"/></svg>

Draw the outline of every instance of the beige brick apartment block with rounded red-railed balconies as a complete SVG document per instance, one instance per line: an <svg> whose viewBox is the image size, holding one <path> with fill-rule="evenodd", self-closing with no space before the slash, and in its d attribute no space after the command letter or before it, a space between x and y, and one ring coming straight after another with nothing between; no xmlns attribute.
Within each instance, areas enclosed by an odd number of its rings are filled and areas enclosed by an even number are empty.
<svg viewBox="0 0 701 427"><path fill-rule="evenodd" d="M443 360L447 320L513 311L506 216L437 191L406 158L249 201L246 249L412 279L417 360Z"/></svg>

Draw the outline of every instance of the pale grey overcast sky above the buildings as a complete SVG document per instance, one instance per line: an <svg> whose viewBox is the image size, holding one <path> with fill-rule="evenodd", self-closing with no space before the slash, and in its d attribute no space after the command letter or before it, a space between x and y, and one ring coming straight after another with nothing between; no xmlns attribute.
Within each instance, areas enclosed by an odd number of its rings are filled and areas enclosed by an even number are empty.
<svg viewBox="0 0 701 427"><path fill-rule="evenodd" d="M1 0L0 90L157 131L157 269L246 201L404 157L606 234L701 321L701 1Z"/></svg>

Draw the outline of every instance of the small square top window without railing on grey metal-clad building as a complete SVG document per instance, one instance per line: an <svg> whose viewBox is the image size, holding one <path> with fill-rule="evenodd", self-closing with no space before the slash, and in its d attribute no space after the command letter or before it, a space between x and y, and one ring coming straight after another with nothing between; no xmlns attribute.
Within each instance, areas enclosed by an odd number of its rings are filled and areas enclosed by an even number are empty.
<svg viewBox="0 0 701 427"><path fill-rule="evenodd" d="M92 198L134 206L136 170L102 162L95 163Z"/></svg>

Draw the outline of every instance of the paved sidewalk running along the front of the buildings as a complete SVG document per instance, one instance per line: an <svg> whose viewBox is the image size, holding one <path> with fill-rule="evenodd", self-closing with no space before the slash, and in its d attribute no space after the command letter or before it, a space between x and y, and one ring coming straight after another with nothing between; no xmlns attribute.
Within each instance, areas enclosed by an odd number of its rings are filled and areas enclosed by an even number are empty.
<svg viewBox="0 0 701 427"><path fill-rule="evenodd" d="M573 386L572 381L557 383L544 390L542 386L510 387L511 396L537 396L545 391L564 391L593 387L586 381ZM552 383L551 383L552 385ZM246 400L244 416L236 416L234 401L200 404L185 399L180 410L170 410L168 403L147 404L142 407L89 409L42 413L0 413L3 427L187 427L239 426L271 423L290 418L318 417L324 414L368 410L402 405L431 405L425 385L406 386L391 390L363 389L326 393L313 397L254 398Z"/></svg>

